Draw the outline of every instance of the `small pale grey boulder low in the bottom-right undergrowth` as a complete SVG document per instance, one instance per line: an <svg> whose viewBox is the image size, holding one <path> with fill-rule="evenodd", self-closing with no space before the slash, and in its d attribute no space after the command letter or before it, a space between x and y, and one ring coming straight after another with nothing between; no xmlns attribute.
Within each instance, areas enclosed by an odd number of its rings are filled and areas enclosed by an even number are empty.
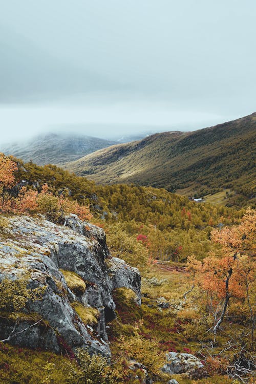
<svg viewBox="0 0 256 384"><path fill-rule="evenodd" d="M166 357L167 363L163 366L162 371L170 375L180 373L193 375L203 368L201 361L190 353L168 352Z"/></svg>

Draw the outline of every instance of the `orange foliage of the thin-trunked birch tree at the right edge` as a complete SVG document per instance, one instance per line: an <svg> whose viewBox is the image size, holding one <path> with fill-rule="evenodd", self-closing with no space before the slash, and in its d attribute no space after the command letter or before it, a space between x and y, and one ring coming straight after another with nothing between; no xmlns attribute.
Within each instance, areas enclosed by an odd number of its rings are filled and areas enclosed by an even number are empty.
<svg viewBox="0 0 256 384"><path fill-rule="evenodd" d="M221 258L214 253L202 261L188 258L188 271L209 297L246 298L255 268L255 224L256 212L248 209L238 226L211 231L211 240L221 245Z"/></svg>

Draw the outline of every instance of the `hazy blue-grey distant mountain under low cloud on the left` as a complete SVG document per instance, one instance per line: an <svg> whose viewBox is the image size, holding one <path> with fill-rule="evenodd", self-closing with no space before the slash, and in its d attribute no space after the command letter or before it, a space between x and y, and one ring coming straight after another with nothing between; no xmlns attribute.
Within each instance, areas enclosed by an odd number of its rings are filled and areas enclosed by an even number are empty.
<svg viewBox="0 0 256 384"><path fill-rule="evenodd" d="M0 145L0 152L38 165L65 164L115 144L114 141L72 134L40 135L31 140Z"/></svg>

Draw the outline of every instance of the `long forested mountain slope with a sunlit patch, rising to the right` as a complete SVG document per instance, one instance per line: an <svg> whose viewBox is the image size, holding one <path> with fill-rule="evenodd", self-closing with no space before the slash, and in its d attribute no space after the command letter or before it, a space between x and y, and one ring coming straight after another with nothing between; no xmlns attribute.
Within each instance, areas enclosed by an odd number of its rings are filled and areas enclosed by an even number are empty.
<svg viewBox="0 0 256 384"><path fill-rule="evenodd" d="M194 132L164 132L114 145L66 167L97 183L138 183L204 195L255 193L256 113Z"/></svg>

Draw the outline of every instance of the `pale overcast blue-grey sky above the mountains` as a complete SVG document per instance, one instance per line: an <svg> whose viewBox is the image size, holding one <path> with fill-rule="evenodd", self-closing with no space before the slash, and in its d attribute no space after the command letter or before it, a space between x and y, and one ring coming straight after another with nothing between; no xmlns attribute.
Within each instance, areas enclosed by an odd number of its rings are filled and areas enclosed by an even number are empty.
<svg viewBox="0 0 256 384"><path fill-rule="evenodd" d="M0 0L0 142L256 111L255 0Z"/></svg>

